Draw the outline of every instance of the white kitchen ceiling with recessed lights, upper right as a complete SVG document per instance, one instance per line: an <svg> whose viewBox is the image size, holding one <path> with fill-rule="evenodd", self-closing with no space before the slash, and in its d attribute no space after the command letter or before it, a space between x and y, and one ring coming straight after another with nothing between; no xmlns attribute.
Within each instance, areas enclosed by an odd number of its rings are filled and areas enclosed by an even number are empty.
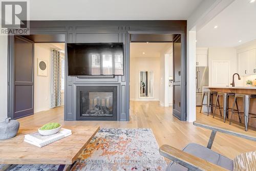
<svg viewBox="0 0 256 171"><path fill-rule="evenodd" d="M214 29L215 26L218 28ZM197 47L236 47L253 39L256 39L256 2L249 0L234 1L197 31Z"/></svg>

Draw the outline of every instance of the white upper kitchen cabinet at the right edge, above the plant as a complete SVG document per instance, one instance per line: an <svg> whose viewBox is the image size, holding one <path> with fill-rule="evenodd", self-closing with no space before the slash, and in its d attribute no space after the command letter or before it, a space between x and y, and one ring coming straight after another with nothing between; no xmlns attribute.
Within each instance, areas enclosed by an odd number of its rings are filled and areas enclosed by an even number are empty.
<svg viewBox="0 0 256 171"><path fill-rule="evenodd" d="M241 76L256 74L256 49L238 54L238 72Z"/></svg>

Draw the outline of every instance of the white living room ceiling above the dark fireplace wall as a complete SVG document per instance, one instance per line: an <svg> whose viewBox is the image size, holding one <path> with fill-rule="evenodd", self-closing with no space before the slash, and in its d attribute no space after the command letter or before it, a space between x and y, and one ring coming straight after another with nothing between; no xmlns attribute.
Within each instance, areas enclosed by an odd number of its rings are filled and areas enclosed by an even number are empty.
<svg viewBox="0 0 256 171"><path fill-rule="evenodd" d="M187 19L202 0L33 0L30 20Z"/></svg>

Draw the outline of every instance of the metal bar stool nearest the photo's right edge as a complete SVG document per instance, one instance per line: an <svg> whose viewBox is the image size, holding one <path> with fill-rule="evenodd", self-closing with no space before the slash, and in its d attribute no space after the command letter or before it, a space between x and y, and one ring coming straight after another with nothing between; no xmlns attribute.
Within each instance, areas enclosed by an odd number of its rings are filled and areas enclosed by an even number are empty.
<svg viewBox="0 0 256 171"><path fill-rule="evenodd" d="M243 100L244 112L239 112L239 111L236 112L236 110L234 110L234 105L237 104L238 98L241 98ZM240 114L243 113L244 114L245 131L247 131L249 118L256 118L256 114L249 113L250 99L253 99L253 98L256 98L256 95L251 95L251 94L236 94L236 95L234 95L233 108L232 108L232 113L231 113L229 124L231 124L231 119L232 119L233 115L238 115L240 123L241 123ZM238 105L237 105L237 110L238 110ZM252 116L249 116L249 115L252 115Z"/></svg>

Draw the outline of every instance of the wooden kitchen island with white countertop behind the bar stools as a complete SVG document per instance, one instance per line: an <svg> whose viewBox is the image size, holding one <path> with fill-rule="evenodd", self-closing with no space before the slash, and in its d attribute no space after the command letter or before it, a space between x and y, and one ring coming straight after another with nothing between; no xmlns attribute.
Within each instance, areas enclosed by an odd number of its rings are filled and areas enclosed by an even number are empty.
<svg viewBox="0 0 256 171"><path fill-rule="evenodd" d="M256 95L256 87L203 87L203 92L205 91L212 91L212 92L223 92L223 93L236 93L236 94L252 94L252 95ZM220 99L220 105L222 105L222 97L219 98ZM216 96L214 97L213 100L214 104L216 102ZM229 99L229 110L230 112L228 113L228 118L226 122L229 122L230 116L231 116L231 108L233 105L233 97L230 97ZM240 112L243 112L243 101L242 99L238 99L238 108ZM236 108L235 108L236 109ZM206 111L206 108L204 108L204 111ZM249 113L252 114L256 114L256 99L251 99L250 100L250 108L249 108ZM223 112L222 112L223 114ZM220 116L220 112L219 110L216 110L216 114L215 116ZM242 116L244 114L241 114ZM221 117L221 116L220 116ZM242 123L244 124L244 118L241 117ZM239 123L239 117L237 115L233 115L232 118L232 122L237 122ZM249 123L248 123L249 127L253 127L254 129L256 129L256 118L250 118L249 119Z"/></svg>

